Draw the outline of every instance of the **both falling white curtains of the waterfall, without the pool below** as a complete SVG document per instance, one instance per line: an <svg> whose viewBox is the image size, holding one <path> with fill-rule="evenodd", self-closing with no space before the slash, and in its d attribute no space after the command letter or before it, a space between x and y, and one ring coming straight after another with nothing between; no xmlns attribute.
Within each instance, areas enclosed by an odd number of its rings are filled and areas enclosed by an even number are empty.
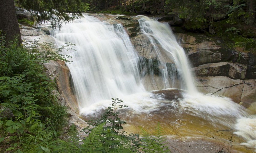
<svg viewBox="0 0 256 153"><path fill-rule="evenodd" d="M150 39L157 53L163 88L173 87L171 85L179 81L179 88L196 92L189 62L170 27L145 16L138 21L141 31ZM63 51L63 54L72 56L72 62L67 66L80 111L98 101L145 91L140 59L121 24L110 25L84 15L84 18L64 25L61 30L52 31L51 35L59 45L65 42L75 44L75 51ZM171 66L167 66L166 59L171 59ZM149 59L149 65L152 74L152 59Z"/></svg>

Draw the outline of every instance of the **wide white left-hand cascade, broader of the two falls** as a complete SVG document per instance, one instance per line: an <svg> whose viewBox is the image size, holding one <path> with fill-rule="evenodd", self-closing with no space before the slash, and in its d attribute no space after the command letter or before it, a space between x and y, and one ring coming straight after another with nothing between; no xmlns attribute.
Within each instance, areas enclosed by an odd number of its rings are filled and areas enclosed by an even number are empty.
<svg viewBox="0 0 256 153"><path fill-rule="evenodd" d="M138 56L121 24L85 15L52 32L59 44L75 44L67 64L80 109L101 100L145 91Z"/></svg>

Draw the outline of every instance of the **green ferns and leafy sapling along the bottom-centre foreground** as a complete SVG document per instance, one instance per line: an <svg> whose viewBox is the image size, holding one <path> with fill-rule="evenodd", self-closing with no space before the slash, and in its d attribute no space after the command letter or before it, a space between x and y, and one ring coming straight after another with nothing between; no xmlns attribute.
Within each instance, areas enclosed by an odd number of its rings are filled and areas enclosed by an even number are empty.
<svg viewBox="0 0 256 153"><path fill-rule="evenodd" d="M89 126L81 132L88 134L86 137L79 136L76 126L72 124L66 134L67 139L59 138L48 142L48 145L40 146L39 152L61 152L61 153L162 153L170 152L166 145L166 137L158 123L152 134L148 134L141 128L142 135L126 134L122 121L119 117L118 108L127 107L119 105L123 103L118 98L113 98L112 103L99 119L88 121Z"/></svg>

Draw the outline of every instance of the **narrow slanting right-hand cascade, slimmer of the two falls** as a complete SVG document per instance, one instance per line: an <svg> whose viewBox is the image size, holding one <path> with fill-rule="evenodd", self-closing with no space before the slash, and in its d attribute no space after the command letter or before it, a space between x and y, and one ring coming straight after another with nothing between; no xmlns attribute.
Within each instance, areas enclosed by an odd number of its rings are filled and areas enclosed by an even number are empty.
<svg viewBox="0 0 256 153"><path fill-rule="evenodd" d="M197 90L190 72L190 63L184 49L177 43L169 25L145 16L137 17L140 17L138 21L141 31L149 38L151 44L154 46L158 66L161 67L160 72L163 76L164 88L171 87L168 77L173 81L177 80L175 78L178 77L181 82L180 88L187 90L191 94L196 93ZM172 61L175 67L167 67L167 60Z"/></svg>

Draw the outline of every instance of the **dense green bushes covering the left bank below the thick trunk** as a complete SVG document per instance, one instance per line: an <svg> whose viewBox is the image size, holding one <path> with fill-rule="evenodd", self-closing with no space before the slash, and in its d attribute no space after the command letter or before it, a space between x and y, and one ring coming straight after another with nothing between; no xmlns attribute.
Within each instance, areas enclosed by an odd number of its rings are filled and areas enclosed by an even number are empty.
<svg viewBox="0 0 256 153"><path fill-rule="evenodd" d="M42 64L68 59L49 46L39 50L37 42L25 48L16 39L8 46L0 39L0 152L35 152L45 137L57 137L67 123L66 107L57 103L55 83ZM1 115L8 110L13 117Z"/></svg>

